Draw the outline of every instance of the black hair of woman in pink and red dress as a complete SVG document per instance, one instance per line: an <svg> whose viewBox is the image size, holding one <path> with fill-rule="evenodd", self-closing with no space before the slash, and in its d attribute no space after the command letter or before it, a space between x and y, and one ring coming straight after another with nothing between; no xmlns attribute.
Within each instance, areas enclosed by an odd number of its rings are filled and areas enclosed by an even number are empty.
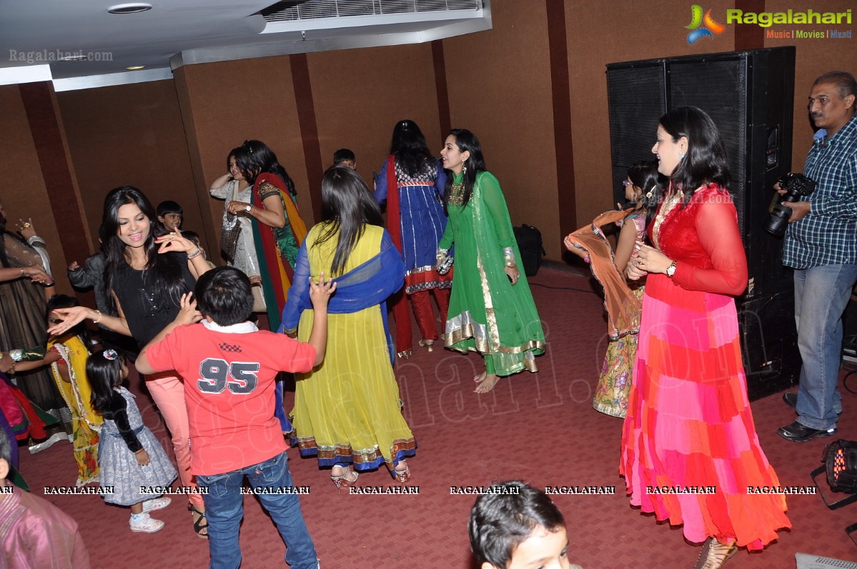
<svg viewBox="0 0 857 569"><path fill-rule="evenodd" d="M726 157L726 145L720 131L704 110L697 107L678 107L661 117L661 126L678 141L687 138L686 156L669 176L673 186L685 193L682 207L692 198L693 192L704 184L716 183L727 189L731 175Z"/></svg>

